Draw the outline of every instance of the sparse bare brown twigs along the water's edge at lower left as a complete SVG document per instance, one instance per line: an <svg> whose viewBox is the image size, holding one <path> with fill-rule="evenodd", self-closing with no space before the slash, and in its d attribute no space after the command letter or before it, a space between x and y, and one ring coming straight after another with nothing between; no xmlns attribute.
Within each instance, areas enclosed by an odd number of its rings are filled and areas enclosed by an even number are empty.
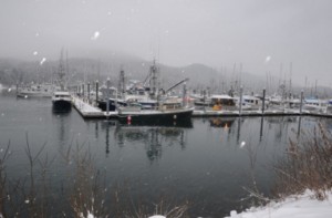
<svg viewBox="0 0 332 218"><path fill-rule="evenodd" d="M9 179L7 177L6 160L11 156L10 143L0 152L0 217L121 217L146 218L160 214L167 218L186 218L188 204L174 206L165 199L153 205L134 203L131 196L129 181L108 189L105 180L106 172L95 166L90 145L69 145L63 156L66 163L68 175L64 184L64 196L58 205L70 204L69 208L54 211L58 203L51 191L54 191L50 174L54 157L44 153L46 144L33 150L27 134L28 157L27 176L24 178Z"/></svg>

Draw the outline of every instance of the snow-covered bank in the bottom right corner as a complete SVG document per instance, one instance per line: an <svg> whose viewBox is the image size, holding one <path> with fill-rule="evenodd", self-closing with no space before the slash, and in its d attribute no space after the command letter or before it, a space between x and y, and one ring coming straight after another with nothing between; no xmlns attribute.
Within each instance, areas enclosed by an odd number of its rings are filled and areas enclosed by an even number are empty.
<svg viewBox="0 0 332 218"><path fill-rule="evenodd" d="M326 218L332 216L332 193L325 200L314 198L312 191L300 196L291 196L280 203L270 203L266 207L250 208L237 214L235 210L226 218Z"/></svg>

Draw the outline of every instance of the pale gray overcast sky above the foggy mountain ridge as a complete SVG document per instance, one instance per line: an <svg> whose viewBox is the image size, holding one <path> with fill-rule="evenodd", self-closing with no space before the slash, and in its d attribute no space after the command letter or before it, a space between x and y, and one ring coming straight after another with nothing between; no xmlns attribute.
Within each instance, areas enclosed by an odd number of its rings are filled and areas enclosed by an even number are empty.
<svg viewBox="0 0 332 218"><path fill-rule="evenodd" d="M0 0L0 56L58 59L61 48L332 84L331 0ZM97 56L96 56L97 59Z"/></svg>

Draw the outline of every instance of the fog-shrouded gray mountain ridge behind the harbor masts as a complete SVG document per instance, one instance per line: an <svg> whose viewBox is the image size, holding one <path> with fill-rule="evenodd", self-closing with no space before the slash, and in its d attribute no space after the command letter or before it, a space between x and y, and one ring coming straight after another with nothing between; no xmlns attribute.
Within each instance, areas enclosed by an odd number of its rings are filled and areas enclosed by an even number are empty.
<svg viewBox="0 0 332 218"><path fill-rule="evenodd" d="M65 58L63 54L63 65L68 69L66 75L70 84L81 84L84 81L94 83L101 81L105 84L107 77L111 85L117 86L121 69L125 72L126 81L144 81L149 72L153 61L146 61L137 56L124 53L90 52L83 53L77 58ZM98 56L97 59L95 56ZM0 60L0 83L14 85L17 83L41 83L51 82L58 76L59 60L22 61L15 59ZM239 92L240 84L243 93L252 94L262 92L267 89L268 94L280 92L280 80L257 76L247 72L222 72L204 64L190 64L181 68L168 66L157 62L160 72L160 86L168 89L177 82L189 79L187 87L189 90L209 90L210 93L228 93L230 89ZM178 89L181 89L179 86ZM329 87L300 87L292 86L292 91L299 94L304 90L308 95L329 96L332 90Z"/></svg>

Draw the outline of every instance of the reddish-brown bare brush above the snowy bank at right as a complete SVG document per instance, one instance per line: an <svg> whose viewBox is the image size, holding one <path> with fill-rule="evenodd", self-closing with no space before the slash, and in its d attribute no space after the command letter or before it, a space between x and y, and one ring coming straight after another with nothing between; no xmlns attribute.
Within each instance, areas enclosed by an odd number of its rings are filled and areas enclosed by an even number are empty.
<svg viewBox="0 0 332 218"><path fill-rule="evenodd" d="M290 139L286 157L276 164L274 170L277 198L310 189L318 199L324 199L332 188L331 133L319 124L313 132L302 132L295 141Z"/></svg>

